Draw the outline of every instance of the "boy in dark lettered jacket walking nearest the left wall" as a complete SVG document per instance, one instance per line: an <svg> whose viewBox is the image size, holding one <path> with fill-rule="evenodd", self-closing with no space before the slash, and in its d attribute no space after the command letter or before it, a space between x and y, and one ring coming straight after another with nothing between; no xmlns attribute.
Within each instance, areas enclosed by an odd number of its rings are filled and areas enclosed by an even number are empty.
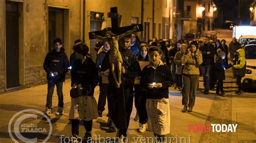
<svg viewBox="0 0 256 143"><path fill-rule="evenodd" d="M48 92L46 100L45 114L51 116L52 95L56 85L58 95L58 111L56 115L63 115L63 93L62 85L65 81L65 74L69 68L68 56L65 54L65 49L62 47L62 40L56 38L53 40L53 51L48 53L44 59L44 70L46 71L46 77L48 80Z"/></svg>

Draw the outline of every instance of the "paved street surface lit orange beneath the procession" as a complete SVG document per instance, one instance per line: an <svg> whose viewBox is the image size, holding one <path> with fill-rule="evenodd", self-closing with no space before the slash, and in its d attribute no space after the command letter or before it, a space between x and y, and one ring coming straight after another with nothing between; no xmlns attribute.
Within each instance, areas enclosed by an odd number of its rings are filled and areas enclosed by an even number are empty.
<svg viewBox="0 0 256 143"><path fill-rule="evenodd" d="M201 77L200 77L201 79ZM234 84L234 83L232 83ZM202 83L200 82L200 88ZM51 117L52 135L49 142L60 142L60 135L70 137L71 124L68 120L70 110L70 80L66 80L63 85L64 93L64 115L55 116L57 111L57 94L53 96L53 113ZM24 109L36 109L44 111L46 102L47 84L39 85L29 89L10 92L0 95L0 142L13 142L8 133L8 124L12 116L18 111ZM170 88L170 111L171 111L171 133L167 137L173 137L172 142L180 141L181 137L186 138L186 142L255 142L256 141L256 110L255 110L255 94L244 94L241 96L234 95L233 92L227 92L226 97L215 96L211 91L210 95L203 95L202 92L197 92L196 104L191 113L182 113L181 109L181 94L180 92ZM98 101L99 88L95 90L95 97ZM105 108L107 110L107 108ZM101 137L113 138L116 137L116 132L107 133L107 111L103 112L103 117L93 120L93 139L98 140L95 135ZM133 120L136 114L136 109L133 107L130 126L128 131L129 142L135 142L134 139L140 142L142 137L153 137L153 133L145 132L138 133L137 128L139 123ZM46 121L41 117L31 119L29 123L38 123L43 125ZM237 132L235 133L201 133L188 132L189 124L204 125L204 124L238 124ZM80 137L84 136L84 127L80 125ZM45 136L44 136L45 137ZM182 139L182 142L185 139ZM42 141L43 137L38 138ZM146 141L147 142L147 141ZM170 140L169 140L170 142Z"/></svg>

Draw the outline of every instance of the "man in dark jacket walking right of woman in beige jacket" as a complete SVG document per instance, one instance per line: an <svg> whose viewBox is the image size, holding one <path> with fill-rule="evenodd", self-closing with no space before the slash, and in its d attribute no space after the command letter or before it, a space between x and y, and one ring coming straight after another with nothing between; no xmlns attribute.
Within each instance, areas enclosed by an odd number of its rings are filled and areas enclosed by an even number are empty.
<svg viewBox="0 0 256 143"><path fill-rule="evenodd" d="M204 94L209 94L211 65L214 63L215 49L210 43L210 37L204 38L204 44L199 48L203 55L203 63L200 65L201 74L204 77Z"/></svg>

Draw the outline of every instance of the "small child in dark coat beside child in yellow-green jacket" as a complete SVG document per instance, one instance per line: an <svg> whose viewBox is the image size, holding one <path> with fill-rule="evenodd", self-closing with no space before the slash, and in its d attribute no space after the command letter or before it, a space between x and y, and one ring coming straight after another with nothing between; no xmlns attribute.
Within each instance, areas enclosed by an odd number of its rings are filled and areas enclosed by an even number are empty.
<svg viewBox="0 0 256 143"><path fill-rule="evenodd" d="M223 90L223 81L225 80L225 70L232 67L232 65L226 65L225 62L226 53L221 51L221 49L217 49L217 58L214 66L214 77L217 80L217 89L216 95L225 96L225 92ZM220 91L220 93L219 93Z"/></svg>

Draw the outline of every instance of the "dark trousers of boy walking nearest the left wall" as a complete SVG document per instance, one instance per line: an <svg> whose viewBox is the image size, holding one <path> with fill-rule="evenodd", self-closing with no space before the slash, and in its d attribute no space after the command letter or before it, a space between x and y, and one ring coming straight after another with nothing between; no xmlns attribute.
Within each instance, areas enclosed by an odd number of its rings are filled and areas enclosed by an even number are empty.
<svg viewBox="0 0 256 143"><path fill-rule="evenodd" d="M56 84L56 87L57 87L58 106L63 107L63 105L64 105L64 103L63 103L63 93L62 93L63 82L55 82L55 81L48 80L48 92L47 92L47 98L46 98L46 105L45 106L49 109L51 109L51 106L52 106L52 95L53 95L55 84Z"/></svg>

